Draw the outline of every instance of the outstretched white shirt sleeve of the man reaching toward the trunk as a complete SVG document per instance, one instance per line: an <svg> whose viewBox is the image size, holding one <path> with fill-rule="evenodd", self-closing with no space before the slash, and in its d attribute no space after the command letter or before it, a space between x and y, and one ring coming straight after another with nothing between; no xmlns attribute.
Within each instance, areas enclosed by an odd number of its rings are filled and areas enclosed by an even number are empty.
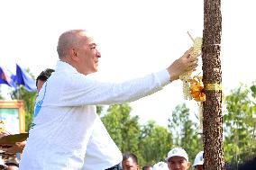
<svg viewBox="0 0 256 170"><path fill-rule="evenodd" d="M59 106L127 103L153 94L169 84L169 72L165 69L148 76L123 83L105 83L81 74L63 76Z"/></svg>

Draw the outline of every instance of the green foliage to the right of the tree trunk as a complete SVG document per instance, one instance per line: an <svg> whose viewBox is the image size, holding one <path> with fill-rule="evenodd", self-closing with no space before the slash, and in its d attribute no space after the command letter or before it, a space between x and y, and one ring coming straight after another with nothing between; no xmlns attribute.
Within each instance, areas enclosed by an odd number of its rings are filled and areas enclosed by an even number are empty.
<svg viewBox="0 0 256 170"><path fill-rule="evenodd" d="M256 156L256 87L242 85L226 96L224 157L233 164Z"/></svg>

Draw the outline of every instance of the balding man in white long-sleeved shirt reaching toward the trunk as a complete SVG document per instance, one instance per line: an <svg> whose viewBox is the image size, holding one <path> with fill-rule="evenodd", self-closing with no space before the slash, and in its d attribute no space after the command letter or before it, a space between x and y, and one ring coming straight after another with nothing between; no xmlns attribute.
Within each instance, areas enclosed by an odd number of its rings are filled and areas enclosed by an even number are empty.
<svg viewBox="0 0 256 170"><path fill-rule="evenodd" d="M100 52L84 30L59 36L59 61L42 85L34 127L23 150L21 170L105 170L122 161L122 153L96 114L96 104L126 103L153 94L197 67L189 52L167 69L120 84L103 83L97 71Z"/></svg>

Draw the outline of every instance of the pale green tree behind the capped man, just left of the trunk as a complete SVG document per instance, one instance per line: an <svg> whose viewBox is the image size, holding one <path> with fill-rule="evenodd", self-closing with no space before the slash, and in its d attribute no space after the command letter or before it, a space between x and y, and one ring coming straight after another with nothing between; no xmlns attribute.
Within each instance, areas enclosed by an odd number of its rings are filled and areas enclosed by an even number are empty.
<svg viewBox="0 0 256 170"><path fill-rule="evenodd" d="M169 119L169 130L173 134L174 145L184 148L191 161L203 150L202 139L196 129L197 124L191 121L187 106L184 103L178 105Z"/></svg>

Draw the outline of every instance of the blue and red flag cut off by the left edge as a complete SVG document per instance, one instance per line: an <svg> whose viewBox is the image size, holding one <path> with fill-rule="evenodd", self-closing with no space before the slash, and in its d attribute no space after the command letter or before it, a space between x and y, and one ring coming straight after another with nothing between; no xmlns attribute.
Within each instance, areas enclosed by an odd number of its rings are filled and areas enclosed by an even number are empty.
<svg viewBox="0 0 256 170"><path fill-rule="evenodd" d="M16 88L14 79L15 79L14 74L0 67L0 84L9 85L11 87Z"/></svg>

